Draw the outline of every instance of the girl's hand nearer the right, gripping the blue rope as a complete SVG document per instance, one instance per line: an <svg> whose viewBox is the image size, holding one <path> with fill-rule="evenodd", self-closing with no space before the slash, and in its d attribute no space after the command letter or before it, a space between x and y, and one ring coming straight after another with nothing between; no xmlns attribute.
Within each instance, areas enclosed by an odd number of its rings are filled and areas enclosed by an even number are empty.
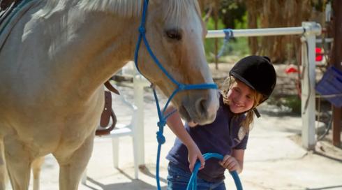
<svg viewBox="0 0 342 190"><path fill-rule="evenodd" d="M219 163L229 171L236 170L241 173L244 168L244 149L233 149L232 155L225 155Z"/></svg>

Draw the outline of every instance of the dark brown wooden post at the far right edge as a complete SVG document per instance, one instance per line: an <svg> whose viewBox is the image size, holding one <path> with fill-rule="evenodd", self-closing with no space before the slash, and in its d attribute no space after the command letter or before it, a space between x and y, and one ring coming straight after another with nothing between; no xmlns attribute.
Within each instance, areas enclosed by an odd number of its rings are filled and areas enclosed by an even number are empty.
<svg viewBox="0 0 342 190"><path fill-rule="evenodd" d="M332 46L331 64L342 70L342 1L332 1L333 17L332 17L332 36L334 43ZM341 108L333 105L332 108L332 144L341 146Z"/></svg>

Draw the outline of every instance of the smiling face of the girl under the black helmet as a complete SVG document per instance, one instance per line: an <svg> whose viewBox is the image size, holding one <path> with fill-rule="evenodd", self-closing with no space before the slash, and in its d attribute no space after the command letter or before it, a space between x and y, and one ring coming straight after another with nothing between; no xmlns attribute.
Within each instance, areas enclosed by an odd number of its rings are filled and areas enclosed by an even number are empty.
<svg viewBox="0 0 342 190"><path fill-rule="evenodd" d="M254 105L253 89L236 80L230 87L226 98L229 102L230 111L241 113L251 110Z"/></svg>

